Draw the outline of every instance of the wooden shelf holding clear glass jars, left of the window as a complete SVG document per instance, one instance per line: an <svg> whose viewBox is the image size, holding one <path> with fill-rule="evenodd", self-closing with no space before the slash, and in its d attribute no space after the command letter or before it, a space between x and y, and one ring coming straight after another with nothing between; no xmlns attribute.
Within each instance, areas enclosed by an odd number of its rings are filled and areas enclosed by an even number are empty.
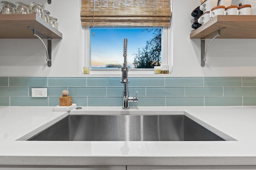
<svg viewBox="0 0 256 170"><path fill-rule="evenodd" d="M1 39L34 39L33 27L44 35L41 38L62 38L62 33L36 14L0 14Z"/></svg>

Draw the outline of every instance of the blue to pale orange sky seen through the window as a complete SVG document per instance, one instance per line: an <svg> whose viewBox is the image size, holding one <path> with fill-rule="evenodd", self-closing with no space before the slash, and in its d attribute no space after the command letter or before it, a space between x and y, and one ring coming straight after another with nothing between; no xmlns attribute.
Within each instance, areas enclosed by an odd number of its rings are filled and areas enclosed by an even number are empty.
<svg viewBox="0 0 256 170"><path fill-rule="evenodd" d="M147 27L149 28L149 27ZM154 27L156 28L156 27ZM157 27L159 29L161 27ZM128 39L127 62L132 64L138 48L145 47L146 41L152 38L154 31L142 31L146 27L125 28L125 27L91 27L90 28L90 54L91 68L105 68L106 64L123 64L123 43L124 38ZM162 28L161 28L162 29ZM93 35L94 32L94 35Z"/></svg>

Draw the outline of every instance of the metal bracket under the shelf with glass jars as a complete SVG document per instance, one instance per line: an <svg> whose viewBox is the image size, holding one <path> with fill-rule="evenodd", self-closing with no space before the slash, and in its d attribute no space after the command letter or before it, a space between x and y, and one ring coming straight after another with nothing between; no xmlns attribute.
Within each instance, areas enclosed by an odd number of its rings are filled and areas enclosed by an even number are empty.
<svg viewBox="0 0 256 170"><path fill-rule="evenodd" d="M28 27L29 29L33 30L33 35L38 37L38 39L40 39L44 45L45 51L46 51L46 61L47 61L47 66L52 66L52 39L46 35L44 35L43 33L41 33L40 31L37 31L36 29L34 29L33 27ZM44 37L47 38L47 47L46 44L44 43L44 41L42 40L41 37L39 37L37 35L37 33L40 33L41 35L43 35Z"/></svg>

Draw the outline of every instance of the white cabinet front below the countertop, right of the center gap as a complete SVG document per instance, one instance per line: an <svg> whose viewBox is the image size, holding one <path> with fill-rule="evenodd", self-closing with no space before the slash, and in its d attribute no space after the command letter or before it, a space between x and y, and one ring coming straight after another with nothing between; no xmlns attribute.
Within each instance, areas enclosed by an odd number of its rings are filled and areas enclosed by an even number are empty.
<svg viewBox="0 0 256 170"><path fill-rule="evenodd" d="M256 170L256 166L127 166L127 170Z"/></svg>

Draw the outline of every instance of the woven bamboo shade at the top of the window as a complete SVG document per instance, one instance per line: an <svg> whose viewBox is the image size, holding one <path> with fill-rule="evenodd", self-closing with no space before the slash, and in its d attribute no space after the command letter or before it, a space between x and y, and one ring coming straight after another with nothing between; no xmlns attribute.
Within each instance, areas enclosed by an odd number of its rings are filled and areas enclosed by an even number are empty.
<svg viewBox="0 0 256 170"><path fill-rule="evenodd" d="M171 0L82 0L82 26L168 27Z"/></svg>

